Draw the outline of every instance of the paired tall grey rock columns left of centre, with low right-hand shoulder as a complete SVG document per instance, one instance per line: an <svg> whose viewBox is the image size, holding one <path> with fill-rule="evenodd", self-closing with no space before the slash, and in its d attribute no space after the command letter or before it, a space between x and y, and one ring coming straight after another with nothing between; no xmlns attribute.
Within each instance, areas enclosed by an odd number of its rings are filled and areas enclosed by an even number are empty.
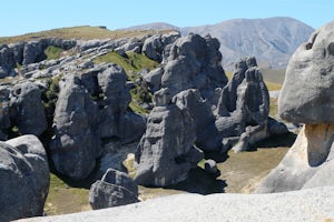
<svg viewBox="0 0 334 222"><path fill-rule="evenodd" d="M50 144L56 169L72 179L86 178L102 153L101 142L138 140L145 118L128 111L127 77L116 64L97 65L60 81Z"/></svg>

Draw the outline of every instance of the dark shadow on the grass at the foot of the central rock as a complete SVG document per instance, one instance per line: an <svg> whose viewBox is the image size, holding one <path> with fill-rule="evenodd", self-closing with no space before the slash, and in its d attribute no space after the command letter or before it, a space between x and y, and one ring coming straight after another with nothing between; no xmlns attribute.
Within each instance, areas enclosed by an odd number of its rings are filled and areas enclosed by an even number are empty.
<svg viewBox="0 0 334 222"><path fill-rule="evenodd" d="M203 169L196 168L190 170L188 178L168 189L187 191L190 193L210 194L210 193L224 193L227 186L224 180L217 180L216 178L206 173Z"/></svg>

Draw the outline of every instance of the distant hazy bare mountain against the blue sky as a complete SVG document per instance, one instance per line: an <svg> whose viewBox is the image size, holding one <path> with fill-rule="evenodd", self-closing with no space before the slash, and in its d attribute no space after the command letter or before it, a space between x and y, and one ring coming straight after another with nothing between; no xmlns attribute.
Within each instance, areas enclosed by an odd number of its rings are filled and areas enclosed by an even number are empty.
<svg viewBox="0 0 334 222"><path fill-rule="evenodd" d="M138 26L137 29L149 30L156 27L173 28L174 26L151 23ZM312 27L286 17L234 19L216 24L185 27L178 30L181 34L194 32L206 36L209 33L217 38L220 41L223 64L227 70L233 68L236 60L248 56L255 56L261 67L285 68L296 48L307 41L314 31Z"/></svg>

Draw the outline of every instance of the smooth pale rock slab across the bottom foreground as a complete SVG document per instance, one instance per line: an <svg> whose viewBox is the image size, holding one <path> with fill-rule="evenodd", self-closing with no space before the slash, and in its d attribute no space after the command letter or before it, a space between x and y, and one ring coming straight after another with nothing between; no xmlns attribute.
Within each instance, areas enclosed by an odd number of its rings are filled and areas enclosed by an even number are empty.
<svg viewBox="0 0 334 222"><path fill-rule="evenodd" d="M288 204L287 204L288 203ZM179 194L126 206L22 220L56 221L332 221L334 188L275 194Z"/></svg>

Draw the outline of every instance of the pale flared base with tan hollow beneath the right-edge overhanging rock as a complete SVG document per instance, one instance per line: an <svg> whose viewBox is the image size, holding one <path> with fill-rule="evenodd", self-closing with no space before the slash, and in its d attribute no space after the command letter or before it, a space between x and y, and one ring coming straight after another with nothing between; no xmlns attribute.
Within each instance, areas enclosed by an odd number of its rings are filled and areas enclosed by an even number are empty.
<svg viewBox="0 0 334 222"><path fill-rule="evenodd" d="M333 124L306 124L282 162L257 193L284 192L304 188L333 185Z"/></svg>

